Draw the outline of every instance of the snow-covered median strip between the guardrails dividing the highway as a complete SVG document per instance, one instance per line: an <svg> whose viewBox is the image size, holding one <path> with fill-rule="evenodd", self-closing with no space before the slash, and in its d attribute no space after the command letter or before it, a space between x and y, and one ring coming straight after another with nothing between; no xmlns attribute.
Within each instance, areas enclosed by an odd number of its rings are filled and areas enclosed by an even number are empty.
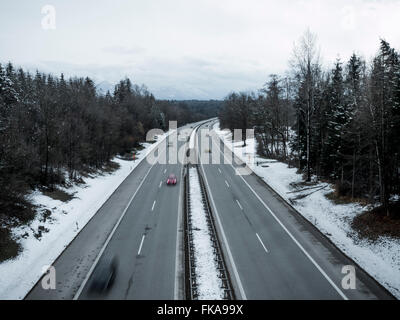
<svg viewBox="0 0 400 320"><path fill-rule="evenodd" d="M224 298L222 281L218 277L218 266L215 262L196 168L189 169L189 192L199 300L222 300Z"/></svg>

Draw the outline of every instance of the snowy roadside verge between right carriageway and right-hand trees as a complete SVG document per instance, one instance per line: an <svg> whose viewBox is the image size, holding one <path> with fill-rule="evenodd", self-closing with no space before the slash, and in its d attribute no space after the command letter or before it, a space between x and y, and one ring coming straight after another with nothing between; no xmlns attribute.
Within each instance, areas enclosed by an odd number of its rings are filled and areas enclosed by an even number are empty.
<svg viewBox="0 0 400 320"><path fill-rule="evenodd" d="M307 188L301 184L302 175L297 173L296 168L258 157L255 139L248 139L247 147L243 148L242 142L232 142L231 133L221 131L218 123L213 129L228 148L248 163L255 174L394 296L400 298L400 240L380 237L372 242L361 239L351 227L354 217L368 207L357 203L335 204L326 197L334 191L333 186L317 183L312 189Z"/></svg>

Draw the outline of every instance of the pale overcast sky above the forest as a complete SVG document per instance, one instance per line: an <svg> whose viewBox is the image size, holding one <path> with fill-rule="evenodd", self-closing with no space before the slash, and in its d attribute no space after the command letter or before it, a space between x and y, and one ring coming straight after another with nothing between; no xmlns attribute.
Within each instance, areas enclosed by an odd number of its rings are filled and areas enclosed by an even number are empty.
<svg viewBox="0 0 400 320"><path fill-rule="evenodd" d="M42 26L45 5L55 29ZM0 62L222 99L285 72L307 28L330 66L353 51L371 58L380 37L400 48L399 21L400 0L1 0Z"/></svg>

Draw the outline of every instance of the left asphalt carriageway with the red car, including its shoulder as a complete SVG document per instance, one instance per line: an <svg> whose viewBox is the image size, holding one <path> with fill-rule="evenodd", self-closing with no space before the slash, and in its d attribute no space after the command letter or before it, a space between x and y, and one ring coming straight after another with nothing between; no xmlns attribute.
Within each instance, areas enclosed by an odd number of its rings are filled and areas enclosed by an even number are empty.
<svg viewBox="0 0 400 320"><path fill-rule="evenodd" d="M178 130L184 129L191 130ZM142 161L56 260L57 289L43 290L39 281L26 299L183 298L182 164L169 163L169 154L186 141L174 140L160 147L167 164ZM170 173L178 176L176 186L166 185ZM94 266L114 256L119 266L111 290L90 293Z"/></svg>

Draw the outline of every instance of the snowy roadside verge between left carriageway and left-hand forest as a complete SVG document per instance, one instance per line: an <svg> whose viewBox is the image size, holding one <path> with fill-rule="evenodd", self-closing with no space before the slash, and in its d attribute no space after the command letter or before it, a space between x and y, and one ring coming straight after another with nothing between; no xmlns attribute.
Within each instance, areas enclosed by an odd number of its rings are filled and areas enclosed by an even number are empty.
<svg viewBox="0 0 400 320"><path fill-rule="evenodd" d="M143 143L144 149L136 155L135 161L114 158L119 169L111 174L84 178L83 185L60 188L73 194L68 202L54 200L39 191L32 193L31 199L38 206L38 212L47 209L51 215L44 218L38 213L29 225L13 230L22 252L15 259L0 263L0 299L23 299L44 273L44 266L57 259L122 181L167 135L169 133L158 136L153 144ZM37 238L38 233L41 236Z"/></svg>

